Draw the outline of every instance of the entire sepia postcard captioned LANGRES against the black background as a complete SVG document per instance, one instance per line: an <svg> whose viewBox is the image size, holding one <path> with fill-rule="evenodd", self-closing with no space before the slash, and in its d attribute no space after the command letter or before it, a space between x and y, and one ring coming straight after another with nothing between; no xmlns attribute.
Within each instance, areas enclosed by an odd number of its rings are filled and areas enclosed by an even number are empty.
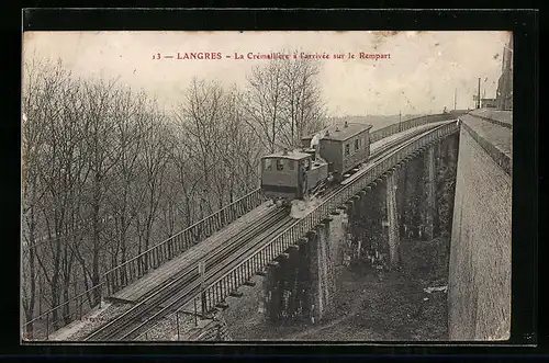
<svg viewBox="0 0 549 363"><path fill-rule="evenodd" d="M501 342L504 31L25 31L21 341Z"/></svg>

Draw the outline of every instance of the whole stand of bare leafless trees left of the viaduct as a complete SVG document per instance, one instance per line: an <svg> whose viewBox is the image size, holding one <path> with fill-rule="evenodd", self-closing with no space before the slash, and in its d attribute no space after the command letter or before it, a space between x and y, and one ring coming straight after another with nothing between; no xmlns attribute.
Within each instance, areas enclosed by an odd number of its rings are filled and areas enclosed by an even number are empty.
<svg viewBox="0 0 549 363"><path fill-rule="evenodd" d="M144 92L77 79L60 63L27 61L23 76L27 321L38 295L59 306L71 286L72 296L98 286L105 269L257 188L260 157L323 115L318 68L305 61L256 67L245 92L194 79L172 117ZM70 305L61 313L68 322Z"/></svg>

